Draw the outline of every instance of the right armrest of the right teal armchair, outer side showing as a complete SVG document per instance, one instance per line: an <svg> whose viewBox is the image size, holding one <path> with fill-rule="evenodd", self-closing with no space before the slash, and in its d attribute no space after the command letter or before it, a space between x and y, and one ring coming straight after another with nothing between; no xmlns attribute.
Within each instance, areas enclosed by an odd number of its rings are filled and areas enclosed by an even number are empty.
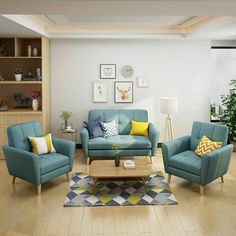
<svg viewBox="0 0 236 236"><path fill-rule="evenodd" d="M202 157L201 185L204 186L227 173L232 152L233 145L229 144Z"/></svg>

